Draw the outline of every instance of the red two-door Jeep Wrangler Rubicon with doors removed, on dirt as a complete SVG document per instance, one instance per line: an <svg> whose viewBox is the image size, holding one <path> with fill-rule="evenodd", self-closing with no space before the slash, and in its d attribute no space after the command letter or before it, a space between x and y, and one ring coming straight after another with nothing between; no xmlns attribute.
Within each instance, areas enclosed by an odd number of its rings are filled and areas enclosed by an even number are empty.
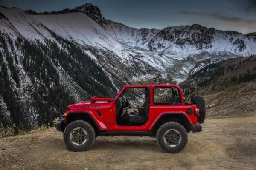
<svg viewBox="0 0 256 170"><path fill-rule="evenodd" d="M167 153L186 147L190 131L200 132L204 99L184 103L178 85L125 85L114 99L93 97L69 105L56 124L71 151L88 150L97 136L151 136Z"/></svg>

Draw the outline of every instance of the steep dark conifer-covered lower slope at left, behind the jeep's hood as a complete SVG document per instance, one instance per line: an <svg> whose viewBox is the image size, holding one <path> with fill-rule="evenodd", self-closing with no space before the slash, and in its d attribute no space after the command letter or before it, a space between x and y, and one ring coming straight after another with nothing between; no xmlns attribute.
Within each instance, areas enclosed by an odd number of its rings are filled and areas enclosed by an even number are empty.
<svg viewBox="0 0 256 170"><path fill-rule="evenodd" d="M66 106L90 95L113 96L116 87L106 71L77 44L52 33L45 44L0 34L2 123L34 127L47 123Z"/></svg>

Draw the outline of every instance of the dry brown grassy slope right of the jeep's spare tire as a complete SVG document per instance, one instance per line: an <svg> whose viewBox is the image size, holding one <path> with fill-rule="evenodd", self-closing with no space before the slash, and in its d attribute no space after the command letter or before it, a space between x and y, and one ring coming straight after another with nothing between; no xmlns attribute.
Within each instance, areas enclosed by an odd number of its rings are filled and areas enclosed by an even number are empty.
<svg viewBox="0 0 256 170"><path fill-rule="evenodd" d="M204 98L208 119L256 116L256 81L233 85ZM210 107L212 103L215 105Z"/></svg>

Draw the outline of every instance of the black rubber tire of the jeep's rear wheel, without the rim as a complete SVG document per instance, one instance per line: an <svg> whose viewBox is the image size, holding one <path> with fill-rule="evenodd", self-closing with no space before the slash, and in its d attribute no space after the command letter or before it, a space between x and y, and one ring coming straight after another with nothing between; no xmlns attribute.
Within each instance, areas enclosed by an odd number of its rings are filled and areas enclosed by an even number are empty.
<svg viewBox="0 0 256 170"><path fill-rule="evenodd" d="M176 147L170 147L164 142L164 133L167 130L175 129L180 132L181 134L181 142ZM178 153L186 147L188 142L188 134L186 129L177 122L166 122L161 125L156 134L157 145L166 153Z"/></svg>

